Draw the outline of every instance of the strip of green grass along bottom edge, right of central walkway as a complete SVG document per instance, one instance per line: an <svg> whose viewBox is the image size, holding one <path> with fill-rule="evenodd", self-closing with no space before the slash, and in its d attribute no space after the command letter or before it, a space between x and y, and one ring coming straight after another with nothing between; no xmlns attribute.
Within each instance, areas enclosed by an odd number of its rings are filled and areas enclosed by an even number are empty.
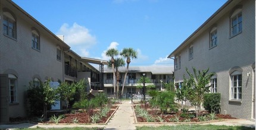
<svg viewBox="0 0 256 130"><path fill-rule="evenodd" d="M176 125L176 126L137 126L136 129L138 130L147 130L147 129L151 129L151 130L166 130L166 129L175 129L175 130L179 130L179 129L189 129L189 130L198 130L198 129L202 129L202 130L253 130L255 128L249 128L246 126L226 126L226 125Z"/></svg>

